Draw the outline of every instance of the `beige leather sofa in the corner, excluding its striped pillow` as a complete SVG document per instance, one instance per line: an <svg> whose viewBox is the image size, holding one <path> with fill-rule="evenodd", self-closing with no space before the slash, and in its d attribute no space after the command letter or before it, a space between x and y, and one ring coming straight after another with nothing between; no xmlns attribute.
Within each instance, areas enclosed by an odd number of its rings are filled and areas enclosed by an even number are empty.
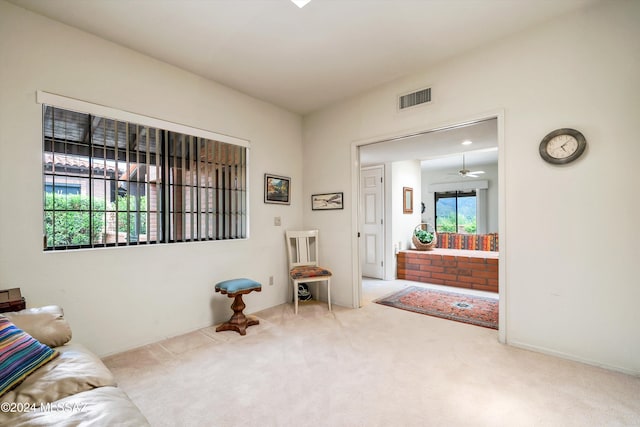
<svg viewBox="0 0 640 427"><path fill-rule="evenodd" d="M60 355L0 397L0 425L149 426L102 361L80 344L60 307L3 313Z"/></svg>

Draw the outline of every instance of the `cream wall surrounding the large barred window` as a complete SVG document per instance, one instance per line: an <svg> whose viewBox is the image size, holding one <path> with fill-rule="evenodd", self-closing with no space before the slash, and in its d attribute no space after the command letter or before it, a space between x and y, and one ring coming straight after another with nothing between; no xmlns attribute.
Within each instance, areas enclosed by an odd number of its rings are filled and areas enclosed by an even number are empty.
<svg viewBox="0 0 640 427"><path fill-rule="evenodd" d="M43 252L36 90L250 140L250 239ZM63 306L74 339L101 355L223 321L220 280L263 283L249 313L287 300L284 230L302 224L299 116L1 0L0 94L0 288ZM290 206L263 203L265 172L292 178Z"/></svg>

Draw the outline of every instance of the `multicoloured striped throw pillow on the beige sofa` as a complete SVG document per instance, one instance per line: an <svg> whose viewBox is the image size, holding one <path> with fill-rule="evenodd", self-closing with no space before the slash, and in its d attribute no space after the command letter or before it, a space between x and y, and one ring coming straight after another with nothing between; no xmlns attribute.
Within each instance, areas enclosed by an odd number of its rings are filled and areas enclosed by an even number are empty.
<svg viewBox="0 0 640 427"><path fill-rule="evenodd" d="M0 316L0 396L58 354Z"/></svg>

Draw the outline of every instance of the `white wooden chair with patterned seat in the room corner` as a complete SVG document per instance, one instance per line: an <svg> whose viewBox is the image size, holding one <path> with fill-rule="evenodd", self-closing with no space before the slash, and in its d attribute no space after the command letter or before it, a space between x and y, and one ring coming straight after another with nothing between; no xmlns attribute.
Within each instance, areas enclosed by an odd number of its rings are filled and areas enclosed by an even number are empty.
<svg viewBox="0 0 640 427"><path fill-rule="evenodd" d="M295 314L298 314L300 283L327 282L327 303L331 311L331 271L318 265L318 230L287 231L285 234Z"/></svg>

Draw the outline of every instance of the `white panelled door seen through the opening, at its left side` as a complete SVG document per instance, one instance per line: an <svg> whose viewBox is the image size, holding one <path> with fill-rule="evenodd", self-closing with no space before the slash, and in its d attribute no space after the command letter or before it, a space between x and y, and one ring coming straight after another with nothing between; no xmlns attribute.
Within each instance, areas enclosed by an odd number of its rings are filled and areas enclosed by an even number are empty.
<svg viewBox="0 0 640 427"><path fill-rule="evenodd" d="M383 172L383 166L360 170L360 262L362 275L375 279L384 278Z"/></svg>

